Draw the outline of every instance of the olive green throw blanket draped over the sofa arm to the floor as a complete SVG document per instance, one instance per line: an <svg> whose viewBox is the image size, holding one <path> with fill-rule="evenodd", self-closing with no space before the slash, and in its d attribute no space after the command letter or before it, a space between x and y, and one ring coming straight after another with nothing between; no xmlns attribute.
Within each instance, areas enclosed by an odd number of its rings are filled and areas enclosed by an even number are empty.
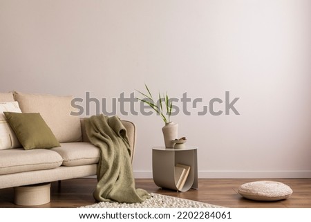
<svg viewBox="0 0 311 222"><path fill-rule="evenodd" d="M119 203L141 203L149 198L147 191L135 188L131 148L120 119L116 115L92 115L85 119L85 127L91 143L100 149L94 198Z"/></svg>

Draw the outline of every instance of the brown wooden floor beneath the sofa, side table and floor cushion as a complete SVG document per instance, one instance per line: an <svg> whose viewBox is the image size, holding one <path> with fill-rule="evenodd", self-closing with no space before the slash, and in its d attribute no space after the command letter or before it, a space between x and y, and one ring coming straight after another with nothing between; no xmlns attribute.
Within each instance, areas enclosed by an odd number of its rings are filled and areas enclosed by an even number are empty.
<svg viewBox="0 0 311 222"><path fill-rule="evenodd" d="M187 198L224 207L311 207L311 178L274 180L289 185L294 192L286 200L273 202L249 201L242 198L237 192L238 187L243 183L251 181L258 181L258 179L200 179L198 183L199 189L191 189L188 192L176 192L157 187L152 179L136 179L136 187L146 189L150 193ZM62 181L61 185L53 182L51 183L50 203L34 207L80 207L94 204L96 202L93 199L92 193L95 185L95 178L78 178ZM13 202L13 188L0 189L0 207L22 207L15 205Z"/></svg>

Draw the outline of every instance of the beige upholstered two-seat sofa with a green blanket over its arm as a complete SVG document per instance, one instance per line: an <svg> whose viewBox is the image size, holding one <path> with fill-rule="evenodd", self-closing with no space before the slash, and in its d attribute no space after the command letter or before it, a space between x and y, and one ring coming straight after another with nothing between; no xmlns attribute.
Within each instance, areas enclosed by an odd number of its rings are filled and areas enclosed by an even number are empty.
<svg viewBox="0 0 311 222"><path fill-rule="evenodd" d="M51 149L25 150L21 146L0 149L0 189L96 174L100 151L88 141L84 118L70 115L72 99L72 96L0 93L0 104L17 101L22 113L40 113L61 145ZM127 129L133 160L135 125L125 120L122 123ZM0 136L3 135L2 132Z"/></svg>

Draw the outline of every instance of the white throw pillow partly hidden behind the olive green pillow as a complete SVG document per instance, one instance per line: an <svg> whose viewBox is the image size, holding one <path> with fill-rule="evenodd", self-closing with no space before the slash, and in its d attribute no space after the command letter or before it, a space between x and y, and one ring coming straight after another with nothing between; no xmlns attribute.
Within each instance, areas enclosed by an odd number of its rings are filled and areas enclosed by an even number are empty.
<svg viewBox="0 0 311 222"><path fill-rule="evenodd" d="M18 102L0 102L0 149L21 147L3 111L21 113Z"/></svg>

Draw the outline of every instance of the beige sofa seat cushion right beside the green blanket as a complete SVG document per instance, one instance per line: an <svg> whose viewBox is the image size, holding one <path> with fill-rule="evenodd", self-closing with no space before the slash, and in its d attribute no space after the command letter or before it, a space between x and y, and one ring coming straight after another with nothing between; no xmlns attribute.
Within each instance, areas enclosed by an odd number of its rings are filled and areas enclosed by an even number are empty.
<svg viewBox="0 0 311 222"><path fill-rule="evenodd" d="M98 163L100 160L100 149L90 142L63 142L60 145L61 147L54 147L51 150L62 156L64 166L88 165Z"/></svg>

